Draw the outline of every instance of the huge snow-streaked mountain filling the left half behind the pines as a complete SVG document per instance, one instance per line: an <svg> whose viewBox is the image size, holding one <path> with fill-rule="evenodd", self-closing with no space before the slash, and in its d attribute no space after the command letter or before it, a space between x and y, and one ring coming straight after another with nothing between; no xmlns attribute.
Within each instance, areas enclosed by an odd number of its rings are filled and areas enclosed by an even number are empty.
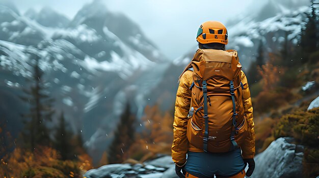
<svg viewBox="0 0 319 178"><path fill-rule="evenodd" d="M68 25L43 24L45 16L65 19L47 8L38 14L20 15L12 7L0 5L0 96L10 98L0 110L8 127L21 129L19 114L25 112L26 105L19 96L22 88L28 87L25 79L32 75L30 61L36 54L57 114L63 111L72 129L81 130L90 153L104 151L110 140L107 134L112 135L125 102L131 103L138 115L143 113L149 101L146 94L169 65L158 63L165 61L165 56L138 25L108 12L99 1L84 6ZM124 28L132 31L125 35L111 31L122 28L123 33Z"/></svg>

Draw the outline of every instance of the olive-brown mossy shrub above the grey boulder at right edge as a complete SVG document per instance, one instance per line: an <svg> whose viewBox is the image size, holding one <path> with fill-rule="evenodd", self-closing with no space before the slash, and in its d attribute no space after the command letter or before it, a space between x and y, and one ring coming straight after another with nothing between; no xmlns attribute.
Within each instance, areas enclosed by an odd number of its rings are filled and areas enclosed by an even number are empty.
<svg viewBox="0 0 319 178"><path fill-rule="evenodd" d="M319 173L319 108L298 110L279 119L274 138L292 136L296 144L304 145L303 175L313 177ZM271 138L269 138L271 139Z"/></svg>

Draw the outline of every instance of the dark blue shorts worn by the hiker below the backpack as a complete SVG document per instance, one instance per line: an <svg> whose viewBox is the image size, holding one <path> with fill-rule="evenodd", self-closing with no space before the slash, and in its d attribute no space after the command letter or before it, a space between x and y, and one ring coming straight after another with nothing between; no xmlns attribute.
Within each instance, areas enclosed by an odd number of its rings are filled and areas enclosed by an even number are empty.
<svg viewBox="0 0 319 178"><path fill-rule="evenodd" d="M227 153L188 152L185 170L200 178L232 176L245 169L241 149Z"/></svg>

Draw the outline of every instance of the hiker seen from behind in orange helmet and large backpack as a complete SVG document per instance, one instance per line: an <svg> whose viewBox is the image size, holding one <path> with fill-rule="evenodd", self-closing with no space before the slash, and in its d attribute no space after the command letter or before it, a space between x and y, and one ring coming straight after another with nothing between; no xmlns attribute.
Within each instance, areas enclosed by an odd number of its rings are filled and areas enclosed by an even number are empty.
<svg viewBox="0 0 319 178"><path fill-rule="evenodd" d="M228 32L218 21L203 23L197 42L199 49L180 75L176 94L176 174L250 176L255 167L253 108L237 52L225 50Z"/></svg>

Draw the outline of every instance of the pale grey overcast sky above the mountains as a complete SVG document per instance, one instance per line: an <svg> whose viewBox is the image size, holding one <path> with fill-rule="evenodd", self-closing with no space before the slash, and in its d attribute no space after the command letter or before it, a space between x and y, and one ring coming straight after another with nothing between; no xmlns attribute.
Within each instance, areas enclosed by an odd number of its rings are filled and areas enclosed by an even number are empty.
<svg viewBox="0 0 319 178"><path fill-rule="evenodd" d="M2 0L0 0L2 1ZM30 8L51 7L72 19L83 5L92 0L11 0L24 13ZM147 37L169 58L188 52L196 43L202 22L227 19L247 13L252 0L101 0L107 9L121 12L138 23Z"/></svg>

